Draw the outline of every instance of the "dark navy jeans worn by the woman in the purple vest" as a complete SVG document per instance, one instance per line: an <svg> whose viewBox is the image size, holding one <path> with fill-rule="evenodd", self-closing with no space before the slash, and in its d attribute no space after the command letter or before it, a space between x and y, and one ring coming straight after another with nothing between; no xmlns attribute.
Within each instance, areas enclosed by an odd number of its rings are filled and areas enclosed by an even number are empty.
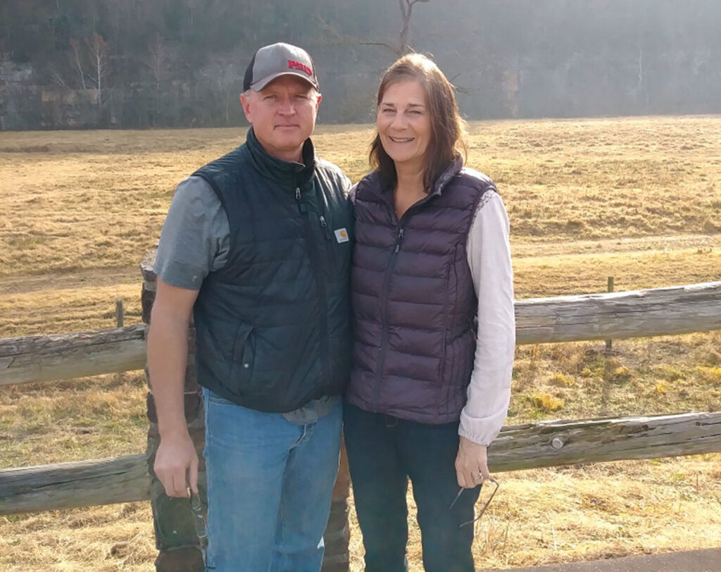
<svg viewBox="0 0 721 572"><path fill-rule="evenodd" d="M418 508L426 572L473 572L473 519L480 487L459 491L458 422L428 425L344 404L343 431L366 572L404 572L408 478Z"/></svg>

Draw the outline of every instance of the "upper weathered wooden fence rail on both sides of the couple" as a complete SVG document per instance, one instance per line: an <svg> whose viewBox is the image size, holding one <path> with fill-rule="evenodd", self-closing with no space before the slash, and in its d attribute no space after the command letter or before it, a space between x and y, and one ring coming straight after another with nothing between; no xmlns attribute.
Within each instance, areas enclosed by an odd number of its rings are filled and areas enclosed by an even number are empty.
<svg viewBox="0 0 721 572"><path fill-rule="evenodd" d="M640 338L721 329L721 282L516 301L516 343ZM144 325L0 340L0 385L142 369Z"/></svg>

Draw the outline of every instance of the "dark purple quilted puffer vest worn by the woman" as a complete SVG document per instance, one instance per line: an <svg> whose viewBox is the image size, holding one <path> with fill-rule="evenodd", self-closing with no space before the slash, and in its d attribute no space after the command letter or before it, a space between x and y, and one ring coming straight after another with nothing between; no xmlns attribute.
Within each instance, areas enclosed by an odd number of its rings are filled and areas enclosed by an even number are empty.
<svg viewBox="0 0 721 572"><path fill-rule="evenodd" d="M458 421L476 348L466 239L492 180L459 157L399 220L376 172L355 188L353 366L346 398L420 423Z"/></svg>

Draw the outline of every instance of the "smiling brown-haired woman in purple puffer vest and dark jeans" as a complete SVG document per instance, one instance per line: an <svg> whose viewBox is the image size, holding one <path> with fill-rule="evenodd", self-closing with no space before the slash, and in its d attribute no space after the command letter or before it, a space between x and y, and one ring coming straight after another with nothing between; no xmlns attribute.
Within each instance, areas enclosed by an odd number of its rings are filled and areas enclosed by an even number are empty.
<svg viewBox="0 0 721 572"><path fill-rule="evenodd" d="M493 182L463 167L462 126L435 63L412 54L386 71L375 170L352 197L344 421L366 572L406 569L408 478L426 572L474 570L473 527L461 524L490 478L486 448L508 409L515 325L508 216Z"/></svg>

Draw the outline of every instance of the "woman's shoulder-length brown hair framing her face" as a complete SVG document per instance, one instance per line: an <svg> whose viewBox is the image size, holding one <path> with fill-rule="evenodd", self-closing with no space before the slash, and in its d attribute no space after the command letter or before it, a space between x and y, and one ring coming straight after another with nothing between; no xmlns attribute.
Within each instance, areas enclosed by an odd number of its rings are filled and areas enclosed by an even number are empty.
<svg viewBox="0 0 721 572"><path fill-rule="evenodd" d="M402 56L386 69L378 87L376 112L390 85L409 80L423 86L428 105L431 136L425 151L423 187L426 193L430 193L435 180L456 158L456 145L463 145L461 136L464 133L464 120L458 113L453 85L432 60L420 53ZM378 172L381 184L386 188L394 188L397 183L396 167L393 159L383 149L381 136L377 132L371 143L368 159L371 167Z"/></svg>

